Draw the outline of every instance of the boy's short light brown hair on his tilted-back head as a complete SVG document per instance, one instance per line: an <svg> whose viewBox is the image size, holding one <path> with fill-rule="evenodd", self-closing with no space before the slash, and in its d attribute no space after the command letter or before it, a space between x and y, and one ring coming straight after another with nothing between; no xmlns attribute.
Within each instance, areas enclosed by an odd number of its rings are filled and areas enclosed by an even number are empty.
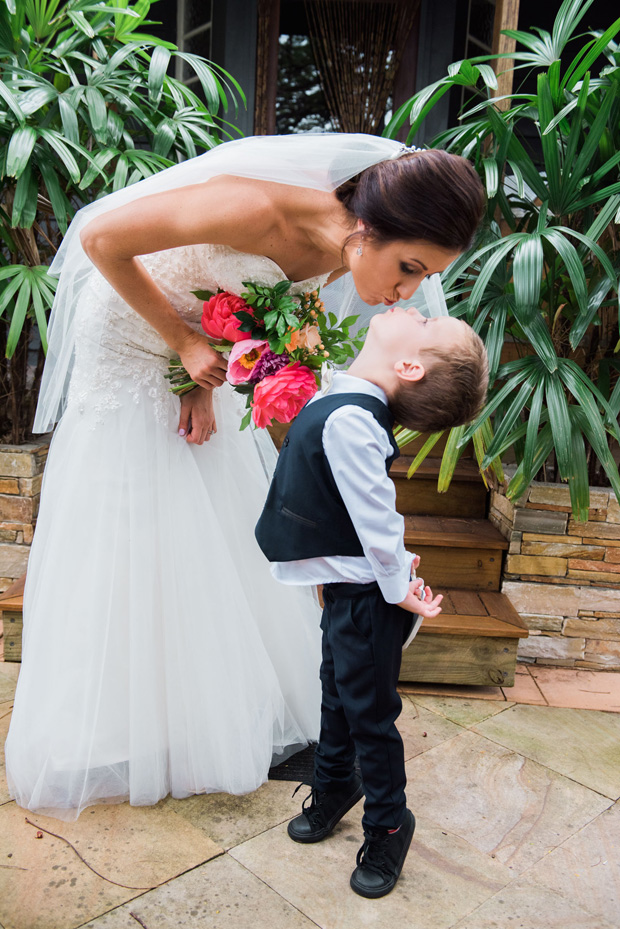
<svg viewBox="0 0 620 929"><path fill-rule="evenodd" d="M399 425L440 432L476 418L486 400L489 362L484 342L471 327L448 350L427 348L420 381L399 381L388 406Z"/></svg>

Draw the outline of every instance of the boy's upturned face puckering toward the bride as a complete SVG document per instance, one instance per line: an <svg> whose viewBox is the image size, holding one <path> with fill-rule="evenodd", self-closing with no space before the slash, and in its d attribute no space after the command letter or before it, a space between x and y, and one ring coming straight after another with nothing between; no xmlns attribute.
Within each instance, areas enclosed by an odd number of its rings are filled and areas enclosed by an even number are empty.
<svg viewBox="0 0 620 929"><path fill-rule="evenodd" d="M441 347L449 351L450 346L462 341L467 329L467 323L461 319L451 316L427 319L414 307L404 310L394 306L372 317L368 336L386 356L413 360L426 349Z"/></svg>

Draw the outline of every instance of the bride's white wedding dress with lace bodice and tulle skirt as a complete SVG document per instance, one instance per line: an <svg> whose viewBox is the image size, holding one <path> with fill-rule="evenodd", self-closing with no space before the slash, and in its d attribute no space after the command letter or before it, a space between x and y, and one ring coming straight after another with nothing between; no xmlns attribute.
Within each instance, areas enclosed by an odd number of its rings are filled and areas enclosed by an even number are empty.
<svg viewBox="0 0 620 929"><path fill-rule="evenodd" d="M224 246L142 260L196 329L192 290L284 280L270 259ZM276 583L254 539L273 443L239 431L244 403L224 385L217 434L188 445L170 355L92 271L45 470L6 744L12 796L60 818L98 802L246 793L273 756L318 737L316 598Z"/></svg>

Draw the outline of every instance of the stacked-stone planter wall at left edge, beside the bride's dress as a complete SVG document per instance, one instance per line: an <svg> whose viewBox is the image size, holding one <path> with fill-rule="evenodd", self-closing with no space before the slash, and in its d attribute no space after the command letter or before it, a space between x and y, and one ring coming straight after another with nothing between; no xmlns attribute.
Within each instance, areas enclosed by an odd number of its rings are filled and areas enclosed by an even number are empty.
<svg viewBox="0 0 620 929"><path fill-rule="evenodd" d="M49 442L0 445L0 592L26 570Z"/></svg>

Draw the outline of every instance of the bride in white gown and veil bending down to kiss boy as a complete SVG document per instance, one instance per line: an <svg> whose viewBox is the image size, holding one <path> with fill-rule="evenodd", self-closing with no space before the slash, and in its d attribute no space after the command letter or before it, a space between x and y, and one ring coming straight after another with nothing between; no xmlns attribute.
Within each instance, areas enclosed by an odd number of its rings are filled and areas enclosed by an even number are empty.
<svg viewBox="0 0 620 929"><path fill-rule="evenodd" d="M350 271L365 304L407 299L481 208L463 159L326 134L226 143L78 213L35 420L60 418L6 743L18 804L69 819L241 794L317 737L317 605L254 540L274 447L239 431L192 291L302 293ZM173 355L200 385L180 401Z"/></svg>

